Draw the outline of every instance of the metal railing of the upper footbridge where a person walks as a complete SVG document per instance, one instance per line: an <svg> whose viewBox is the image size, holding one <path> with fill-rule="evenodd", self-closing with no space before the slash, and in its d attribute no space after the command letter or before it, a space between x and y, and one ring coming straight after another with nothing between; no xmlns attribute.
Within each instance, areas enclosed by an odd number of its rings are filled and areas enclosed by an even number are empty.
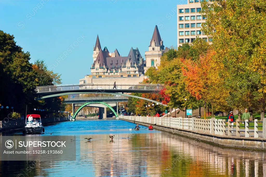
<svg viewBox="0 0 266 177"><path fill-rule="evenodd" d="M132 89L132 90L161 90L163 84L72 84L72 85L48 85L36 87L36 93L55 92L62 90L86 90L86 89Z"/></svg>

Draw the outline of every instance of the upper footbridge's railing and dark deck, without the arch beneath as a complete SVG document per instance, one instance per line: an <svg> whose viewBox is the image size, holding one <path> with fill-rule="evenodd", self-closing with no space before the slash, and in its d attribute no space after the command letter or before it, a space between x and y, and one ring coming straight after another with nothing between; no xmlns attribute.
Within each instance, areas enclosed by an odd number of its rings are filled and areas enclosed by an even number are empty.
<svg viewBox="0 0 266 177"><path fill-rule="evenodd" d="M95 92L95 93L154 93L164 88L163 84L68 84L48 85L36 87L38 95L49 95L57 93L74 92Z"/></svg>

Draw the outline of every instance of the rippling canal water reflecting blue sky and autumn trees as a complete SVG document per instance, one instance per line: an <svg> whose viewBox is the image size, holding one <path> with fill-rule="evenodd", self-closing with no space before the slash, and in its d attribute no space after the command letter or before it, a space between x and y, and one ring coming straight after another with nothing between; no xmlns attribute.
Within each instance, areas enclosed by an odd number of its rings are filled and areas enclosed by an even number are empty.
<svg viewBox="0 0 266 177"><path fill-rule="evenodd" d="M266 176L264 152L221 148L143 126L139 131L129 130L134 127L122 120L46 126L41 136L54 132L55 136L77 137L76 161L1 161L0 176ZM114 141L110 135L115 135ZM87 137L92 141L87 142Z"/></svg>

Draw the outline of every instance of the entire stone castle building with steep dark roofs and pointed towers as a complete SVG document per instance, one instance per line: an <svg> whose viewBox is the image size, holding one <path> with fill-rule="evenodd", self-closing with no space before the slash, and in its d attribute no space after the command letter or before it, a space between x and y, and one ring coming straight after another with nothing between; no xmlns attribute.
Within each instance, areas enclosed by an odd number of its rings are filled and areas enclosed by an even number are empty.
<svg viewBox="0 0 266 177"><path fill-rule="evenodd" d="M93 64L91 75L80 79L80 84L111 84L113 78L117 84L139 84L145 78L144 73L150 67L160 65L160 58L169 48L163 45L157 25L155 26L149 51L145 52L146 61L141 56L138 47L131 47L127 56L121 56L117 49L109 52L107 47L102 49L99 36L97 35L95 46L93 46Z"/></svg>

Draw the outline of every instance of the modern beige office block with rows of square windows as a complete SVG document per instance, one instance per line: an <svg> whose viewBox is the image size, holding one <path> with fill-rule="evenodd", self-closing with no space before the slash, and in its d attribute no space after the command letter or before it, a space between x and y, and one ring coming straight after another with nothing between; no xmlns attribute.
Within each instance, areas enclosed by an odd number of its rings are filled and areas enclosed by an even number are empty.
<svg viewBox="0 0 266 177"><path fill-rule="evenodd" d="M188 4L177 5L177 46L191 44L196 36L212 43L212 39L201 31L202 23L205 22L205 17L200 14L202 1L188 0Z"/></svg>

